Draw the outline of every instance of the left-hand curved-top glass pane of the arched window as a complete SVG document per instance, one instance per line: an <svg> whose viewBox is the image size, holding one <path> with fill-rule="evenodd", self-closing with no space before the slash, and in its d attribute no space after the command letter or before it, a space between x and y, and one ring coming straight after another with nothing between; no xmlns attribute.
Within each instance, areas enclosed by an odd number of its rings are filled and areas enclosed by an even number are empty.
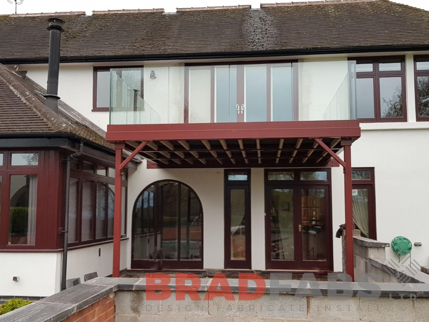
<svg viewBox="0 0 429 322"><path fill-rule="evenodd" d="M154 186L137 199L133 211L134 259L155 258Z"/></svg>

